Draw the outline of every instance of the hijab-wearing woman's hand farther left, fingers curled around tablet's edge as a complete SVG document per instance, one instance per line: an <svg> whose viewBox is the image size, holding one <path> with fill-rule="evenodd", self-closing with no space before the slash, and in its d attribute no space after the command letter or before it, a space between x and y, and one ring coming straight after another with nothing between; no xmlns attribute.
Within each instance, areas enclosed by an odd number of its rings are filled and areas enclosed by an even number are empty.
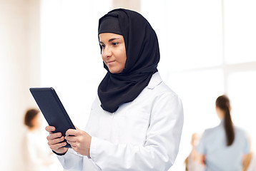
<svg viewBox="0 0 256 171"><path fill-rule="evenodd" d="M61 133L52 133L52 131L55 130L55 127L53 126L46 126L45 130L49 132L47 140L51 150L54 150L54 152L59 154L66 153L68 148L64 146L67 145L67 142L62 142L64 140L64 136L62 136Z"/></svg>

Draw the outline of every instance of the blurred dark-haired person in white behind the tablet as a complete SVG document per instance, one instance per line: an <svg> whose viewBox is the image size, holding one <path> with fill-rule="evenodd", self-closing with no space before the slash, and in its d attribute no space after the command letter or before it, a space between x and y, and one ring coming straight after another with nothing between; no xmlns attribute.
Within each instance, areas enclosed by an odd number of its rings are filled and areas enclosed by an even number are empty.
<svg viewBox="0 0 256 171"><path fill-rule="evenodd" d="M41 133L42 116L39 110L29 109L24 116L26 133L24 136L23 159L26 171L45 171L53 164L53 153L46 145Z"/></svg>

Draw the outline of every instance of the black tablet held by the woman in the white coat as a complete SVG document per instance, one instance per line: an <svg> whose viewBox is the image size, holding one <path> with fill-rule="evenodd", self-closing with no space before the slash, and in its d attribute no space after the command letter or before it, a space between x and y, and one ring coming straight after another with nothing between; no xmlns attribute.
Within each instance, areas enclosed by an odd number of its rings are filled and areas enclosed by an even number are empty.
<svg viewBox="0 0 256 171"><path fill-rule="evenodd" d="M56 128L54 133L61 133L65 137L67 130L76 129L54 88L29 88L29 90L47 123ZM71 146L67 143L65 147Z"/></svg>

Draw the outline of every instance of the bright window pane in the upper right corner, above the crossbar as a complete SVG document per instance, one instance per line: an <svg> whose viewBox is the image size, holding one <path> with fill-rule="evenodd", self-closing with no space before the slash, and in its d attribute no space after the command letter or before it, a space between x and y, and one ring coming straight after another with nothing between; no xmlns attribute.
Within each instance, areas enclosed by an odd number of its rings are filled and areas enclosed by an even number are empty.
<svg viewBox="0 0 256 171"><path fill-rule="evenodd" d="M225 61L256 61L256 1L224 0Z"/></svg>

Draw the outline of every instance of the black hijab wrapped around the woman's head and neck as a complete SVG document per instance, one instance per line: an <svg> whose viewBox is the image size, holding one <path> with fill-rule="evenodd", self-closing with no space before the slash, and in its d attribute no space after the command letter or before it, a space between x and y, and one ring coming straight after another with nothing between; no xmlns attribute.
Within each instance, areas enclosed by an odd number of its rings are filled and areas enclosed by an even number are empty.
<svg viewBox="0 0 256 171"><path fill-rule="evenodd" d="M107 66L106 76L99 84L98 95L102 108L114 113L123 103L129 103L149 84L152 75L157 72L159 45L157 35L144 17L127 9L114 9L99 19L99 33L106 25L105 19L119 23L119 31L124 36L127 61L122 73L110 73ZM116 22L115 22L116 23ZM108 29L111 26L108 26ZM110 31L109 31L110 32ZM114 33L115 30L110 33ZM119 33L120 34L120 33Z"/></svg>

